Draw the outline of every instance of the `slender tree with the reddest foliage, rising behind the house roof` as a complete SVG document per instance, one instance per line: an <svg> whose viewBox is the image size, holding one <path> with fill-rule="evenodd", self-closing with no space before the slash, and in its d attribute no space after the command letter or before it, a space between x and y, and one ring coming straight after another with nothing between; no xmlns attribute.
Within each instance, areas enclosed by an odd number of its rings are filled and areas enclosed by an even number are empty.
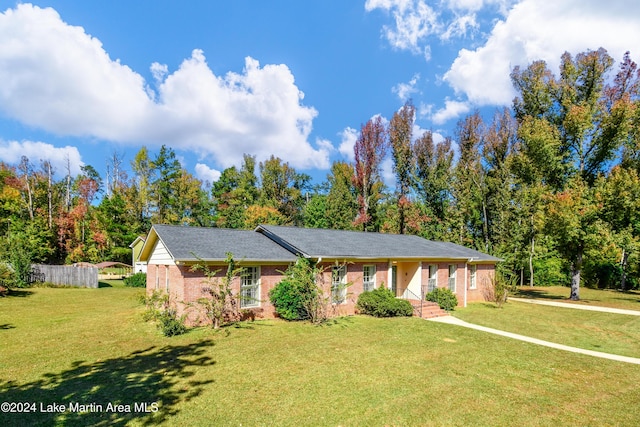
<svg viewBox="0 0 640 427"><path fill-rule="evenodd" d="M353 147L355 166L353 185L358 194L358 216L354 224L367 231L374 222L372 212L380 198L380 163L387 148L387 130L380 116L370 119L360 129Z"/></svg>

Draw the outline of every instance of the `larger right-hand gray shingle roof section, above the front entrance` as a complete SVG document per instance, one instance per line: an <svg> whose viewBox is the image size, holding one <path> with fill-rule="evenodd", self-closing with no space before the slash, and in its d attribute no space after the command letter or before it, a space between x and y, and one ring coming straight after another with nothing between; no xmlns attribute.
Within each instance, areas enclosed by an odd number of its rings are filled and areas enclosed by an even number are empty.
<svg viewBox="0 0 640 427"><path fill-rule="evenodd" d="M434 242L419 236L273 225L260 225L256 231L293 252L311 258L473 258L480 262L500 261L464 246Z"/></svg>

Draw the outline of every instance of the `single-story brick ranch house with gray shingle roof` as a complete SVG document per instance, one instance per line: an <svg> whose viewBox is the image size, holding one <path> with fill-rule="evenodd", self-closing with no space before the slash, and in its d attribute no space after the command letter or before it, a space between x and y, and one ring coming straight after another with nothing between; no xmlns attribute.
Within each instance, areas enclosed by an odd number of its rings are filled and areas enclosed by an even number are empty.
<svg viewBox="0 0 640 427"><path fill-rule="evenodd" d="M483 288L499 258L460 245L418 236L260 225L255 230L154 225L140 253L146 262L147 292L168 292L181 313L203 296L206 263L216 277L226 272L227 253L243 274L236 280L240 307L258 318L276 316L268 293L297 257L324 270L322 283L336 314L353 314L358 296L379 286L399 298L423 300L436 287L448 287L460 306L484 299ZM350 286L345 288L344 284ZM189 311L188 322L201 320Z"/></svg>

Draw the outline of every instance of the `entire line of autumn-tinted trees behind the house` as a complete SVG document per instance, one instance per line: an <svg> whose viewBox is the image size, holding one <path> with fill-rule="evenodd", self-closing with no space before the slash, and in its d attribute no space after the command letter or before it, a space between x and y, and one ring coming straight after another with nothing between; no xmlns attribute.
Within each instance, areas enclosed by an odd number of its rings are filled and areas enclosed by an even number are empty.
<svg viewBox="0 0 640 427"><path fill-rule="evenodd" d="M638 287L640 73L604 49L515 67L517 96L453 135L415 135L411 101L361 126L354 161L313 184L287 162L245 154L203 185L171 148L113 155L62 179L50 162L0 164L2 256L38 262L129 262L152 223L250 229L260 223L416 234L494 254L521 284ZM390 159L395 188L385 186ZM98 200L99 198L99 200ZM18 255L16 255L18 254Z"/></svg>

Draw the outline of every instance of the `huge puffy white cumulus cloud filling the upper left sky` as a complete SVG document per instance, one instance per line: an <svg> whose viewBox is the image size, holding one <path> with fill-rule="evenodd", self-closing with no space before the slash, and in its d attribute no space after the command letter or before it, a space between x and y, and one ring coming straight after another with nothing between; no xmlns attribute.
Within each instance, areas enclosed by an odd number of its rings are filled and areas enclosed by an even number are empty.
<svg viewBox="0 0 640 427"><path fill-rule="evenodd" d="M150 66L154 89L51 8L19 4L0 14L0 111L59 135L197 152L221 167L243 154L297 168L326 168L309 141L317 111L286 65L250 57L241 73L215 75L201 50L170 72Z"/></svg>

